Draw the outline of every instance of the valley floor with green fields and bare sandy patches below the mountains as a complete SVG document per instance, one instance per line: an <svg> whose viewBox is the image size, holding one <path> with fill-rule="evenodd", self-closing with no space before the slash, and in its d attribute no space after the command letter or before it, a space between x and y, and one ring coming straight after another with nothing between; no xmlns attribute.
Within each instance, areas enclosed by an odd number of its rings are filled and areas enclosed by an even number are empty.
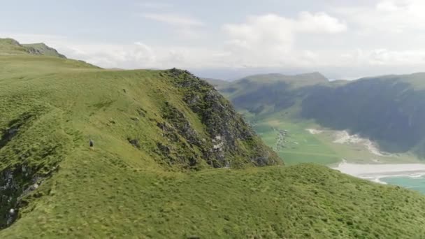
<svg viewBox="0 0 425 239"><path fill-rule="evenodd" d="M310 162L333 166L343 159L358 164L420 162L414 154L380 152L379 146L368 139L308 121L271 118L252 124L264 143L278 152L288 165Z"/></svg>

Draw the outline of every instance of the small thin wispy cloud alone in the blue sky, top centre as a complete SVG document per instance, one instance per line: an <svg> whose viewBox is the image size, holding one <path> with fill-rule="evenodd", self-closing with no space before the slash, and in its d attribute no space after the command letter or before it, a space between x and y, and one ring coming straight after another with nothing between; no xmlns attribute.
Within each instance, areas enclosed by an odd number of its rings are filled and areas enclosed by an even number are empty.
<svg viewBox="0 0 425 239"><path fill-rule="evenodd" d="M169 13L143 13L143 17L149 20L157 22L163 22L179 27L200 27L203 26L203 22L196 20L193 17L187 17L182 15L175 15Z"/></svg>

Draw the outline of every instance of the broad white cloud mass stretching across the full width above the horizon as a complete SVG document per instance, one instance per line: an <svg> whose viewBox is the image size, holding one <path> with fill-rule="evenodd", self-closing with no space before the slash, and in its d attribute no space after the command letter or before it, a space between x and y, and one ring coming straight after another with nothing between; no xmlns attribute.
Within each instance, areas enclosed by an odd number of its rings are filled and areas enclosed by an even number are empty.
<svg viewBox="0 0 425 239"><path fill-rule="evenodd" d="M23 43L43 41L68 57L105 68L328 69L347 77L378 72L375 69L383 69L382 74L424 71L425 1L343 3L338 8L327 5L317 12L302 11L294 17L251 15L241 22L222 23L219 31L207 24L210 22L162 13L164 9L159 8L168 6L154 3L141 3L157 9L152 13L144 9L139 16L162 22L166 31L174 33L169 34L173 38L168 43L161 41L162 45L143 43L143 38L140 43L99 44L66 36L1 35ZM199 41L173 41L175 38ZM176 45L180 42L197 45Z"/></svg>

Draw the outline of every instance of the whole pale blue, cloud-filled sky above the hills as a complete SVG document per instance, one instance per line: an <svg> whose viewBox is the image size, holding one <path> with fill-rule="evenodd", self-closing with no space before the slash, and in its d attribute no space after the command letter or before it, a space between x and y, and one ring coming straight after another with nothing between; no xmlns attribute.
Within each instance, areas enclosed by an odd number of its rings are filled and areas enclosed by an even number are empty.
<svg viewBox="0 0 425 239"><path fill-rule="evenodd" d="M425 71L422 0L0 0L0 38L104 68L185 68L233 80Z"/></svg>

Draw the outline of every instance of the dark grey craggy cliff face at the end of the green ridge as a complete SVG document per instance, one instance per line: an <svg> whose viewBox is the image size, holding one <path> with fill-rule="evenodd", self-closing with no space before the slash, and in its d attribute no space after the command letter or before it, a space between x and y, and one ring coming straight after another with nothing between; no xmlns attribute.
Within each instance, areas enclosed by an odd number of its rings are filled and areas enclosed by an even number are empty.
<svg viewBox="0 0 425 239"><path fill-rule="evenodd" d="M203 158L208 164L218 167L241 167L245 164L266 166L280 164L278 156L270 150L231 103L217 92L208 82L197 78L188 71L171 69L168 75L183 92L183 101L199 116L206 126L208 139L205 142L196 136L187 123L177 124L179 132L194 145L208 148ZM175 115L181 118L181 115ZM168 117L171 119L173 117ZM181 121L179 121L181 122Z"/></svg>

